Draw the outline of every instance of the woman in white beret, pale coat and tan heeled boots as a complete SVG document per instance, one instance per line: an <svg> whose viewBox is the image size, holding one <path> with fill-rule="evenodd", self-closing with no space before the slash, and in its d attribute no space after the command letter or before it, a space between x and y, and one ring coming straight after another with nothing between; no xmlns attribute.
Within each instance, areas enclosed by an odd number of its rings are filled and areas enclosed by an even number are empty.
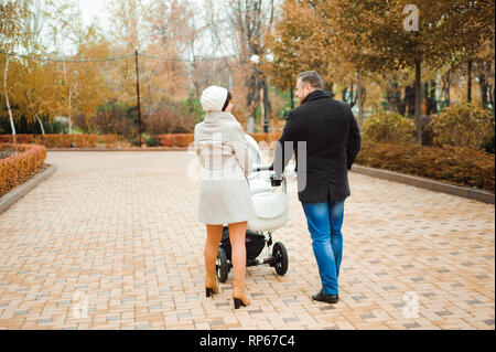
<svg viewBox="0 0 496 352"><path fill-rule="evenodd" d="M227 224L233 248L233 299L238 309L250 303L245 295L245 236L247 222L256 217L247 179L252 161L241 125L230 114L230 93L209 86L201 104L207 114L195 126L195 149L203 167L198 218L207 231L205 291L207 297L218 291L215 262L223 226Z"/></svg>

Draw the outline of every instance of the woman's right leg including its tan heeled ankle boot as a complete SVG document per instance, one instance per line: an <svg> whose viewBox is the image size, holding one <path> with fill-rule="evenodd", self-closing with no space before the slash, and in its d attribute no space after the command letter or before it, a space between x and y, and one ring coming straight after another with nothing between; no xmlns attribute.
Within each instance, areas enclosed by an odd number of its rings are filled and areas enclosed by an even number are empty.
<svg viewBox="0 0 496 352"><path fill-rule="evenodd" d="M245 271L246 271L246 227L247 222L228 224L229 239L231 246L231 262L234 270L233 297L235 308L248 306L250 301L245 296Z"/></svg>

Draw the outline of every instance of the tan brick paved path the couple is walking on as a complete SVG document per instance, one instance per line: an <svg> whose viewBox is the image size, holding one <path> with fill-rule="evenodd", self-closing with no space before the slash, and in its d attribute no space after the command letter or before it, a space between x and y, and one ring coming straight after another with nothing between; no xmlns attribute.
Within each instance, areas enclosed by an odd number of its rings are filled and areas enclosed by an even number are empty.
<svg viewBox="0 0 496 352"><path fill-rule="evenodd" d="M0 328L494 329L494 205L354 173L337 305L311 300L320 279L294 182L274 233L288 274L249 267L245 309L231 273L205 298L192 159L48 152L58 171L0 214Z"/></svg>

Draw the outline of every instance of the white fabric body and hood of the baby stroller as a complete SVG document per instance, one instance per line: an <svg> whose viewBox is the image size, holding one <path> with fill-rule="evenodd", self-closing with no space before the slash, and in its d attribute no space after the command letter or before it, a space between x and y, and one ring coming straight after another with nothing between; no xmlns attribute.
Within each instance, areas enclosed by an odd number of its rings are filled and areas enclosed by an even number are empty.
<svg viewBox="0 0 496 352"><path fill-rule="evenodd" d="M252 160L260 166L260 149L255 139L246 135L248 143L252 147ZM248 230L261 232L273 231L283 226L288 222L288 194L285 192L274 192L276 186L270 183L271 171L254 172L249 178L251 200L254 201L257 217L248 221Z"/></svg>

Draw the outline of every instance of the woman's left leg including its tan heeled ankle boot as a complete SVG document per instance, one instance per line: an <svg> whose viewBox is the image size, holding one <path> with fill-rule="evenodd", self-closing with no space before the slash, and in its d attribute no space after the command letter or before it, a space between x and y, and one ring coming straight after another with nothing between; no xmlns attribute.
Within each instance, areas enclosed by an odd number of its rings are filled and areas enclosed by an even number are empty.
<svg viewBox="0 0 496 352"><path fill-rule="evenodd" d="M218 244L223 238L223 225L206 225L207 238L205 242L205 288L206 296L217 292L217 275L215 270L215 262L217 259Z"/></svg>

